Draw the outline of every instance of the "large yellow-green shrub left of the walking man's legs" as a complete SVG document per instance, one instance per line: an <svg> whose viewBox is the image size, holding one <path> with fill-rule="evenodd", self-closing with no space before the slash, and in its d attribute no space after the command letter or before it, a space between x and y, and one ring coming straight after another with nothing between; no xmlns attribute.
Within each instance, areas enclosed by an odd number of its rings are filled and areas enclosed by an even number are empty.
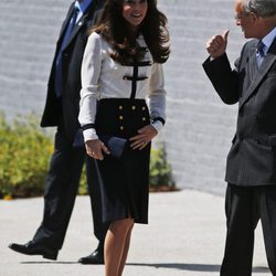
<svg viewBox="0 0 276 276"><path fill-rule="evenodd" d="M42 194L52 138L38 128L33 117L11 126L0 116L0 194L31 197Z"/></svg>

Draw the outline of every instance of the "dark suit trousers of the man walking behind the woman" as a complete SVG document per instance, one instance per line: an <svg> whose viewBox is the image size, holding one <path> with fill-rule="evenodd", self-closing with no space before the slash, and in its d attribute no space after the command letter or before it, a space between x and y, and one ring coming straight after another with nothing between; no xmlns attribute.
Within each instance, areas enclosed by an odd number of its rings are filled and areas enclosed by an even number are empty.
<svg viewBox="0 0 276 276"><path fill-rule="evenodd" d="M102 223L100 193L94 162L86 158L84 148L72 146L62 127L57 127L55 134L54 152L45 181L43 220L33 241L53 250L62 248L85 159L94 233L99 242L104 242L108 225Z"/></svg>

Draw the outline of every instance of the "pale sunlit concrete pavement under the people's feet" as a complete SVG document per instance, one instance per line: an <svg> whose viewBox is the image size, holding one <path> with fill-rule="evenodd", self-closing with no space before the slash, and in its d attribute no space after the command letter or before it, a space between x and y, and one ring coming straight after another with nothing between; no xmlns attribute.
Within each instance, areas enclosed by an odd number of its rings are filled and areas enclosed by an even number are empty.
<svg viewBox="0 0 276 276"><path fill-rule="evenodd" d="M25 256L7 246L25 243L42 219L43 200L0 201L0 276L103 276L103 265L77 259L95 248L88 197L77 197L56 262ZM193 190L150 194L149 225L136 225L125 276L219 276L224 250L224 199ZM261 226L256 230L254 276L267 269Z"/></svg>

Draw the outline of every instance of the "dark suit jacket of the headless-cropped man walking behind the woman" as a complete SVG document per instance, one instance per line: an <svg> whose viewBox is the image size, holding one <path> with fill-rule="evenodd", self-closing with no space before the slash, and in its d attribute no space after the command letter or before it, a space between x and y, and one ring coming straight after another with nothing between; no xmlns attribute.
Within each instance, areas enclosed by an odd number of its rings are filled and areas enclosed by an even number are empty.
<svg viewBox="0 0 276 276"><path fill-rule="evenodd" d="M78 116L79 92L81 92L81 67L88 38L88 30L95 23L97 12L100 11L104 0L94 0L74 28L71 39L62 53L63 66L63 95L57 99L54 92L55 60L62 45L67 23L71 19L74 3L71 4L67 17L63 22L60 38L56 43L54 60L47 84L47 96L44 113L41 120L42 127L60 126L64 127L70 140L74 140L76 131L81 128Z"/></svg>

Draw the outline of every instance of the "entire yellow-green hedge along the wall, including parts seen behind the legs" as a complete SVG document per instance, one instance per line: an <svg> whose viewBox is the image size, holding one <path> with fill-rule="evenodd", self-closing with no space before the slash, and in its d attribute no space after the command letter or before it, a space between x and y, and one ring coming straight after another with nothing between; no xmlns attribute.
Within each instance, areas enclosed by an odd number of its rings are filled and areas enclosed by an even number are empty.
<svg viewBox="0 0 276 276"><path fill-rule="evenodd" d="M15 120L11 126L0 116L0 198L26 198L42 195L53 138L38 127L38 119L29 117ZM174 190L171 167L162 146L151 150L151 190ZM79 194L86 194L83 171Z"/></svg>

